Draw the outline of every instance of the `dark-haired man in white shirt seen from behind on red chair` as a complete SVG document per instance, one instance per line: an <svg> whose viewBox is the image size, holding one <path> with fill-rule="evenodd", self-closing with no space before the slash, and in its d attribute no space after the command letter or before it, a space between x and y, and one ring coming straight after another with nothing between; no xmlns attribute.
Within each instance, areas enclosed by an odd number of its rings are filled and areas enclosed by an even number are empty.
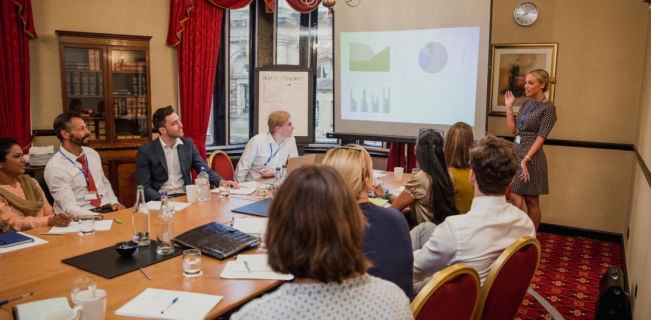
<svg viewBox="0 0 651 320"><path fill-rule="evenodd" d="M414 291L455 263L473 267L483 284L506 247L521 237L536 237L529 216L504 196L518 165L513 144L495 136L482 138L470 151L468 181L475 188L473 204L467 214L447 217L422 249L414 252Z"/></svg>

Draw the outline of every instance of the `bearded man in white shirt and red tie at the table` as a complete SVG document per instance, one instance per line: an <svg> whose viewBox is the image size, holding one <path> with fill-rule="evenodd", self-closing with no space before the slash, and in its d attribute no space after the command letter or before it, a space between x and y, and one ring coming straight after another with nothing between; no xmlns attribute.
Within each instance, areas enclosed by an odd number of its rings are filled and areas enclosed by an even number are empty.
<svg viewBox="0 0 651 320"><path fill-rule="evenodd" d="M54 131L61 148L45 167L44 178L55 207L73 216L124 209L104 176L100 154L88 147L90 131L81 115L57 116Z"/></svg>

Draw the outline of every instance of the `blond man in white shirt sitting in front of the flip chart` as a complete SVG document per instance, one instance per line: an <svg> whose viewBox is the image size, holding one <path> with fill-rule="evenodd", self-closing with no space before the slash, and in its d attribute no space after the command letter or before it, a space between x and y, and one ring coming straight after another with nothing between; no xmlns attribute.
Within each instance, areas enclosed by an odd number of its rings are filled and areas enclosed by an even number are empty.
<svg viewBox="0 0 651 320"><path fill-rule="evenodd" d="M267 124L269 132L256 134L247 143L235 169L236 182L273 177L276 167L281 167L289 158L298 156L290 114L287 111L273 111Z"/></svg>

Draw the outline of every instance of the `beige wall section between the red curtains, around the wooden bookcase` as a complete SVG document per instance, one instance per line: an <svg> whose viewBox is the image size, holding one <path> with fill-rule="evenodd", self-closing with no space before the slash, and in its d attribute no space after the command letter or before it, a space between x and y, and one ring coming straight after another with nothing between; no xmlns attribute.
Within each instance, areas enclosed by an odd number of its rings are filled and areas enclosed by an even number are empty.
<svg viewBox="0 0 651 320"><path fill-rule="evenodd" d="M59 41L55 30L153 36L150 42L152 111L172 105L178 110L176 49L165 45L169 1L33 0L38 38L29 40L33 129L51 129L62 113ZM55 145L55 137L38 137L35 145Z"/></svg>

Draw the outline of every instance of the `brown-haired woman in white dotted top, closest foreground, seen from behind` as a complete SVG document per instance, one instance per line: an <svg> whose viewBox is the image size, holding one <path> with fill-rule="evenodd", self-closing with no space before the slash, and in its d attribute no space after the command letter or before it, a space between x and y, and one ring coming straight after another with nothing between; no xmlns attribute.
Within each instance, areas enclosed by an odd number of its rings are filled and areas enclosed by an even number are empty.
<svg viewBox="0 0 651 320"><path fill-rule="evenodd" d="M230 319L413 319L400 287L367 273L364 216L333 167L292 172L268 216L269 266L295 280Z"/></svg>

